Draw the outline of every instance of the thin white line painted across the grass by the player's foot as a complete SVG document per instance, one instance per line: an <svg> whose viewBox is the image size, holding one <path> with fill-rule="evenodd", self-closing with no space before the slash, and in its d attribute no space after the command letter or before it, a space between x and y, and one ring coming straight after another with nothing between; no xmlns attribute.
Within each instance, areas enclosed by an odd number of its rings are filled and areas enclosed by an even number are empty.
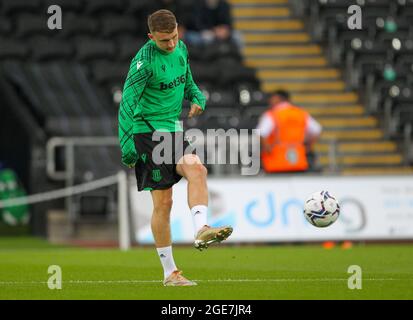
<svg viewBox="0 0 413 320"><path fill-rule="evenodd" d="M348 281L347 278L322 279L199 279L197 282L339 282ZM394 278L364 278L363 281L413 281L413 279ZM161 280L65 280L62 284L134 284L134 283L161 283ZM2 285L47 285L47 281L0 281Z"/></svg>

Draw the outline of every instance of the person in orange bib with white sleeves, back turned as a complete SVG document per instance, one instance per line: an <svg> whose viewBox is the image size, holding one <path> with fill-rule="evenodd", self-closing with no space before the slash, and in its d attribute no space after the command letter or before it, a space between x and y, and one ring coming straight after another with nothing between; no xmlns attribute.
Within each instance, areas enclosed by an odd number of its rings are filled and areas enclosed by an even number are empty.
<svg viewBox="0 0 413 320"><path fill-rule="evenodd" d="M305 110L290 103L285 90L273 92L270 108L261 116L261 165L265 172L307 171L307 151L321 134L321 125Z"/></svg>

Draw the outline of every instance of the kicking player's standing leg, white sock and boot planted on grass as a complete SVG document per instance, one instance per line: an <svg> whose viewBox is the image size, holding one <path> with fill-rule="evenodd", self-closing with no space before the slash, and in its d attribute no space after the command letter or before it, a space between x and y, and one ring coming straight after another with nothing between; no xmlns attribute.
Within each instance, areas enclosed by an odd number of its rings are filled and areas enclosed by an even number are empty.
<svg viewBox="0 0 413 320"><path fill-rule="evenodd" d="M170 215L172 208L172 188L152 190L153 213L151 220L155 246L164 271L165 286L193 286L195 282L182 276L172 254Z"/></svg>

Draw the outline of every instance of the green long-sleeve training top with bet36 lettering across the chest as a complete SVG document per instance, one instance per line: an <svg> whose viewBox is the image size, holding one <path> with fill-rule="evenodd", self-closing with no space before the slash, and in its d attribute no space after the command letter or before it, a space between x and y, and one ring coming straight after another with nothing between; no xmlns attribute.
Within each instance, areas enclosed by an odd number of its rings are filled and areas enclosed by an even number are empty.
<svg viewBox="0 0 413 320"><path fill-rule="evenodd" d="M152 132L150 126L163 132L182 131L178 120L184 99L205 108L205 96L192 78L188 61L188 50L181 40L171 53L149 40L132 59L118 113L125 165L137 161L134 134Z"/></svg>

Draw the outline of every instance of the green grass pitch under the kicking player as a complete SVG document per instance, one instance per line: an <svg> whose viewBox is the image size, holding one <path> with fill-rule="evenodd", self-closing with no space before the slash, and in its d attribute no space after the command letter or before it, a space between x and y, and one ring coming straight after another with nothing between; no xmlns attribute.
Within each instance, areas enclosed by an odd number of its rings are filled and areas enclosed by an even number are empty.
<svg viewBox="0 0 413 320"><path fill-rule="evenodd" d="M32 238L0 238L0 299L413 299L413 245L176 247L195 287L163 287L153 248L84 249ZM50 290L50 265L62 289ZM348 267L362 270L349 289Z"/></svg>

